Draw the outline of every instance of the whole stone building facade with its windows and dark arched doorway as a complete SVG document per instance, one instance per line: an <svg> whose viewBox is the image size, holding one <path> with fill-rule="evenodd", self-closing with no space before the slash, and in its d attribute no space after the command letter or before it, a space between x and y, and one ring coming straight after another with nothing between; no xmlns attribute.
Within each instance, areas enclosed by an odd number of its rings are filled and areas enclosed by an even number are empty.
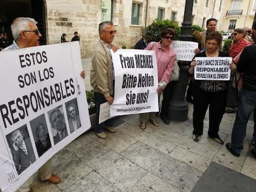
<svg viewBox="0 0 256 192"><path fill-rule="evenodd" d="M114 43L132 48L141 38L142 28L156 18L171 19L181 26L186 4L186 0L19 0L19 4L24 4L19 6L28 6L27 11L22 12L19 8L13 10L17 2L9 0L8 6L0 9L0 19L1 15L12 12L6 25L10 25L15 17L34 17L41 24L44 44L59 43L62 33L66 33L66 39L70 41L74 31L78 31L82 57L92 55L101 21L113 21L117 29ZM6 0L0 0L0 3L7 5ZM221 8L221 0L194 0L193 24L205 27L206 20L211 17L220 20Z"/></svg>

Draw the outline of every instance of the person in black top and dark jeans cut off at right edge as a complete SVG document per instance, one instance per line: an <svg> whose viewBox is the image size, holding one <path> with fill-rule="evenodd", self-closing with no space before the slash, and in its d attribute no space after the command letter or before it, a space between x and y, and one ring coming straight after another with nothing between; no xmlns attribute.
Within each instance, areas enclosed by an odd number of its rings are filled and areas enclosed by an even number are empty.
<svg viewBox="0 0 256 192"><path fill-rule="evenodd" d="M256 35L256 20L254 21L253 33ZM242 72L242 90L239 96L236 120L234 122L231 143L226 144L226 148L236 157L244 148L242 143L246 135L246 126L250 115L256 107L256 44L247 46L242 51L237 65L231 64L231 70ZM255 138L254 138L255 140ZM256 158L256 148L252 149L252 154Z"/></svg>

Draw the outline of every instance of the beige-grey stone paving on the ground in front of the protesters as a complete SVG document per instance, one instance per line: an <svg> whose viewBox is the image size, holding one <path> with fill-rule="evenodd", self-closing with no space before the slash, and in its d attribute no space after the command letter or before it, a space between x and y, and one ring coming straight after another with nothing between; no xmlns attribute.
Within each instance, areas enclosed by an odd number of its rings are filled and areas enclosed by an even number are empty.
<svg viewBox="0 0 256 192"><path fill-rule="evenodd" d="M83 69L90 90L90 58L83 59ZM116 119L117 132L107 133L106 140L88 131L54 155L53 172L62 182L35 179L33 191L192 191L212 162L256 182L256 159L249 152L254 122L247 125L241 156L234 157L225 145L208 138L208 114L201 140L192 140L192 112L189 104L186 121L165 125L158 117L160 125L147 123L145 130L139 128L139 115L125 115ZM224 114L221 122L225 144L231 141L234 118L235 114Z"/></svg>

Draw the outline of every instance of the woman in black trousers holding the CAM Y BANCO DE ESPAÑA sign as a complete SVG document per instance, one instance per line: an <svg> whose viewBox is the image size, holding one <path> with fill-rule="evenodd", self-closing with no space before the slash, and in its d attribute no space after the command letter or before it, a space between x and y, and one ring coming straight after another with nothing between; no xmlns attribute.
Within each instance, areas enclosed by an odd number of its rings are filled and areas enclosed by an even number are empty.
<svg viewBox="0 0 256 192"><path fill-rule="evenodd" d="M222 35L218 31L208 33L205 38L206 51L195 55L190 64L189 73L194 73L197 57L228 57L228 54L218 50L222 41ZM207 59L207 58L206 58ZM193 140L198 142L203 135L203 119L209 106L208 136L220 144L224 144L218 135L220 123L226 107L226 89L228 81L222 80L194 80L194 112L193 112Z"/></svg>

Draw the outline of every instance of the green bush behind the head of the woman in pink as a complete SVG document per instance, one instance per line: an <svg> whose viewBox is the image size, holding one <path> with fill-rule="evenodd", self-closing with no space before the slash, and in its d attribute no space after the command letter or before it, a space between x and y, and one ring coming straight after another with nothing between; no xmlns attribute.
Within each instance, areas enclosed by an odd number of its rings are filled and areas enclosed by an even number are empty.
<svg viewBox="0 0 256 192"><path fill-rule="evenodd" d="M153 23L148 25L145 28L145 39L149 42L151 41L160 41L161 40L161 31L168 28L169 26L173 26L176 33L174 36L174 40L179 40L179 35L181 34L181 28L176 22L173 22L171 20L163 20L160 21L158 19L155 19Z"/></svg>

